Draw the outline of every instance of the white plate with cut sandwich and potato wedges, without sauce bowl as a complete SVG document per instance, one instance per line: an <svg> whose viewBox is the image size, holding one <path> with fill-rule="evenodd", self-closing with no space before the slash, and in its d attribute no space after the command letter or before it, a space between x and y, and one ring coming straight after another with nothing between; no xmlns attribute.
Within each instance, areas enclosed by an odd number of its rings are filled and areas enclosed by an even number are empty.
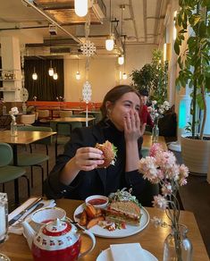
<svg viewBox="0 0 210 261"><path fill-rule="evenodd" d="M128 191L118 190L109 196L105 209L81 204L73 215L81 228L88 229L98 237L124 238L147 227L149 214Z"/></svg>

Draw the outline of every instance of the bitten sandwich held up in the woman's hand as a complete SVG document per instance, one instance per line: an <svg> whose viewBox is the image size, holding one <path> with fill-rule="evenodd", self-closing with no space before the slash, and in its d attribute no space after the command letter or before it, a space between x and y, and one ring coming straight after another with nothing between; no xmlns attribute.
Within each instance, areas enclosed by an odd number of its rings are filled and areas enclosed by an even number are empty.
<svg viewBox="0 0 210 261"><path fill-rule="evenodd" d="M113 146L113 143L108 140L103 144L97 143L96 147L103 152L104 164L97 165L98 168L107 168L110 164L115 163L117 148Z"/></svg>

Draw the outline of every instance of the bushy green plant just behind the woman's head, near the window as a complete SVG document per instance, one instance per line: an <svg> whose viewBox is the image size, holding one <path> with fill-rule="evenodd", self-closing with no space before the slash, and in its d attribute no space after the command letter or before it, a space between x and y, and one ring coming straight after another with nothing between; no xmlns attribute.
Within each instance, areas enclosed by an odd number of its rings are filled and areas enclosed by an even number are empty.
<svg viewBox="0 0 210 261"><path fill-rule="evenodd" d="M153 51L152 63L145 64L140 70L130 73L133 85L140 91L146 88L151 99L163 104L167 99L168 63L162 62L163 52Z"/></svg>

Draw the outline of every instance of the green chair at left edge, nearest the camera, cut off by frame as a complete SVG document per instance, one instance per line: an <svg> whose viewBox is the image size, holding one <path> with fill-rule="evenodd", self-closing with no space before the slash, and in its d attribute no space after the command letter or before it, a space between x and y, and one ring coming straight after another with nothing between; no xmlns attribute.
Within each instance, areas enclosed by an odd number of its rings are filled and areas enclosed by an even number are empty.
<svg viewBox="0 0 210 261"><path fill-rule="evenodd" d="M25 175L26 171L21 167L9 165L12 161L13 161L13 148L7 143L0 143L0 183L3 184L3 192L4 192L4 183L9 181L14 181L15 184L15 181L18 182L17 179L24 177L27 181L28 197L30 197L29 178ZM17 202L19 202L18 190L15 191L14 194L18 197L16 199Z"/></svg>

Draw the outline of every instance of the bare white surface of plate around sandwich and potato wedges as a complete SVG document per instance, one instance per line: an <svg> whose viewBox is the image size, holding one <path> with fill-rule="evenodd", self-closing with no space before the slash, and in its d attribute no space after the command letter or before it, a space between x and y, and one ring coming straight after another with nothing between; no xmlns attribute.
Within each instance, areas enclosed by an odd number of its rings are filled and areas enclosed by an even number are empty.
<svg viewBox="0 0 210 261"><path fill-rule="evenodd" d="M80 219L76 217L76 215L79 215L85 207L85 204L82 204L78 206L78 208L74 211L73 219L75 222L79 222ZM142 206L141 207L141 219L139 225L131 225L126 224L126 229L116 229L113 232L110 232L106 229L103 229L99 225L95 225L89 229L89 232L92 232L95 234L95 236L103 237L103 238L125 238L131 235L134 235L140 231L142 231L144 228L146 228L148 222L149 222L149 215L147 210Z"/></svg>

